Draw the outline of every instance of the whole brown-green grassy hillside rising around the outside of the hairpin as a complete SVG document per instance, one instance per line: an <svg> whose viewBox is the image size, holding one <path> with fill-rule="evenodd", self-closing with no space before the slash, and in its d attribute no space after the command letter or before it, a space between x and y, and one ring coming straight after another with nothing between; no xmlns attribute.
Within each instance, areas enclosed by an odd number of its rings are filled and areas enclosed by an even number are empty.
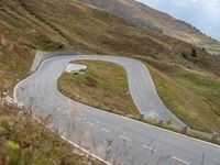
<svg viewBox="0 0 220 165"><path fill-rule="evenodd" d="M76 0L2 0L0 32L1 91L29 74L35 50L128 56L152 67L160 96L184 122L220 132L220 63L194 45Z"/></svg>

